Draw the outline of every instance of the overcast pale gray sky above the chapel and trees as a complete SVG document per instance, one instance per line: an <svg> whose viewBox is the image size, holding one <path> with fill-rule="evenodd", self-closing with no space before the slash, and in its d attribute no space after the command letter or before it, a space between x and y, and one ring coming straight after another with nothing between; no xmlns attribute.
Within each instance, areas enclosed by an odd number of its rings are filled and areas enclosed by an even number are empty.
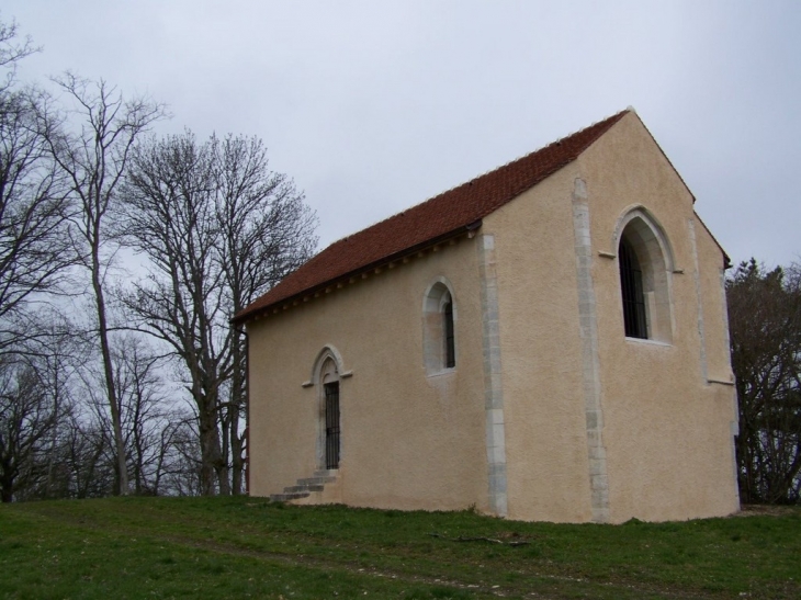
<svg viewBox="0 0 801 600"><path fill-rule="evenodd" d="M4 0L160 133L261 137L323 246L633 105L737 262L801 258L801 2Z"/></svg>

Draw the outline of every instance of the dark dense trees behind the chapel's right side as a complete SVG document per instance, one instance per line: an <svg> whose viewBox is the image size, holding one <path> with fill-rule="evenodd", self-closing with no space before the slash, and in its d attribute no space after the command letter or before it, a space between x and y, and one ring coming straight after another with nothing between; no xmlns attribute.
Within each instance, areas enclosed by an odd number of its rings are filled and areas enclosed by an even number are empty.
<svg viewBox="0 0 801 600"><path fill-rule="evenodd" d="M754 259L727 282L745 502L801 500L801 265Z"/></svg>

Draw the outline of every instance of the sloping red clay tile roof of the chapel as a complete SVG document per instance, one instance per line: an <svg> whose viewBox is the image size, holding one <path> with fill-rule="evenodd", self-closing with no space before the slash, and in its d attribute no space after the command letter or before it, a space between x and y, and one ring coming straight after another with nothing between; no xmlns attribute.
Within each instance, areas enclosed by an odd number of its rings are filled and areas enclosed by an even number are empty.
<svg viewBox="0 0 801 600"><path fill-rule="evenodd" d="M324 288L338 280L410 253L419 247L477 227L482 218L573 162L628 112L629 110L622 111L335 241L235 315L234 322L245 322L262 310L294 296Z"/></svg>

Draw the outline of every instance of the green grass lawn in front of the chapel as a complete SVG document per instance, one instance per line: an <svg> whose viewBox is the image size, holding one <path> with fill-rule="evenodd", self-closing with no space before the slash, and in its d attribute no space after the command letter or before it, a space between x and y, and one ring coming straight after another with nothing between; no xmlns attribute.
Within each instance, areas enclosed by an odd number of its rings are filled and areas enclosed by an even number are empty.
<svg viewBox="0 0 801 600"><path fill-rule="evenodd" d="M798 599L801 509L566 525L259 498L0 507L0 598L497 597Z"/></svg>

